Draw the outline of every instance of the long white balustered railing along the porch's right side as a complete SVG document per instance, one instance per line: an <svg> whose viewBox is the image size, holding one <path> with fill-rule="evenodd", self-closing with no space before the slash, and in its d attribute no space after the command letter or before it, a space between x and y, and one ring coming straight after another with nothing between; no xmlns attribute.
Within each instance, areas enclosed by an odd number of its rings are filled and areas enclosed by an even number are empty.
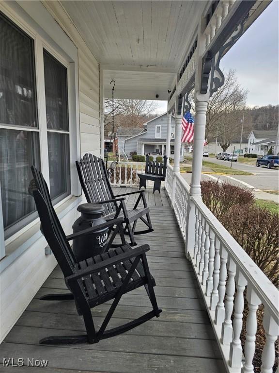
<svg viewBox="0 0 279 373"><path fill-rule="evenodd" d="M180 174L173 173L170 165L167 168L166 189L227 371L254 372L252 361L257 334L256 312L259 305L263 305L266 341L261 372L272 373L275 341L279 334L278 290L202 199L190 197L188 184ZM245 300L248 303L248 318L242 351L240 335Z"/></svg>

